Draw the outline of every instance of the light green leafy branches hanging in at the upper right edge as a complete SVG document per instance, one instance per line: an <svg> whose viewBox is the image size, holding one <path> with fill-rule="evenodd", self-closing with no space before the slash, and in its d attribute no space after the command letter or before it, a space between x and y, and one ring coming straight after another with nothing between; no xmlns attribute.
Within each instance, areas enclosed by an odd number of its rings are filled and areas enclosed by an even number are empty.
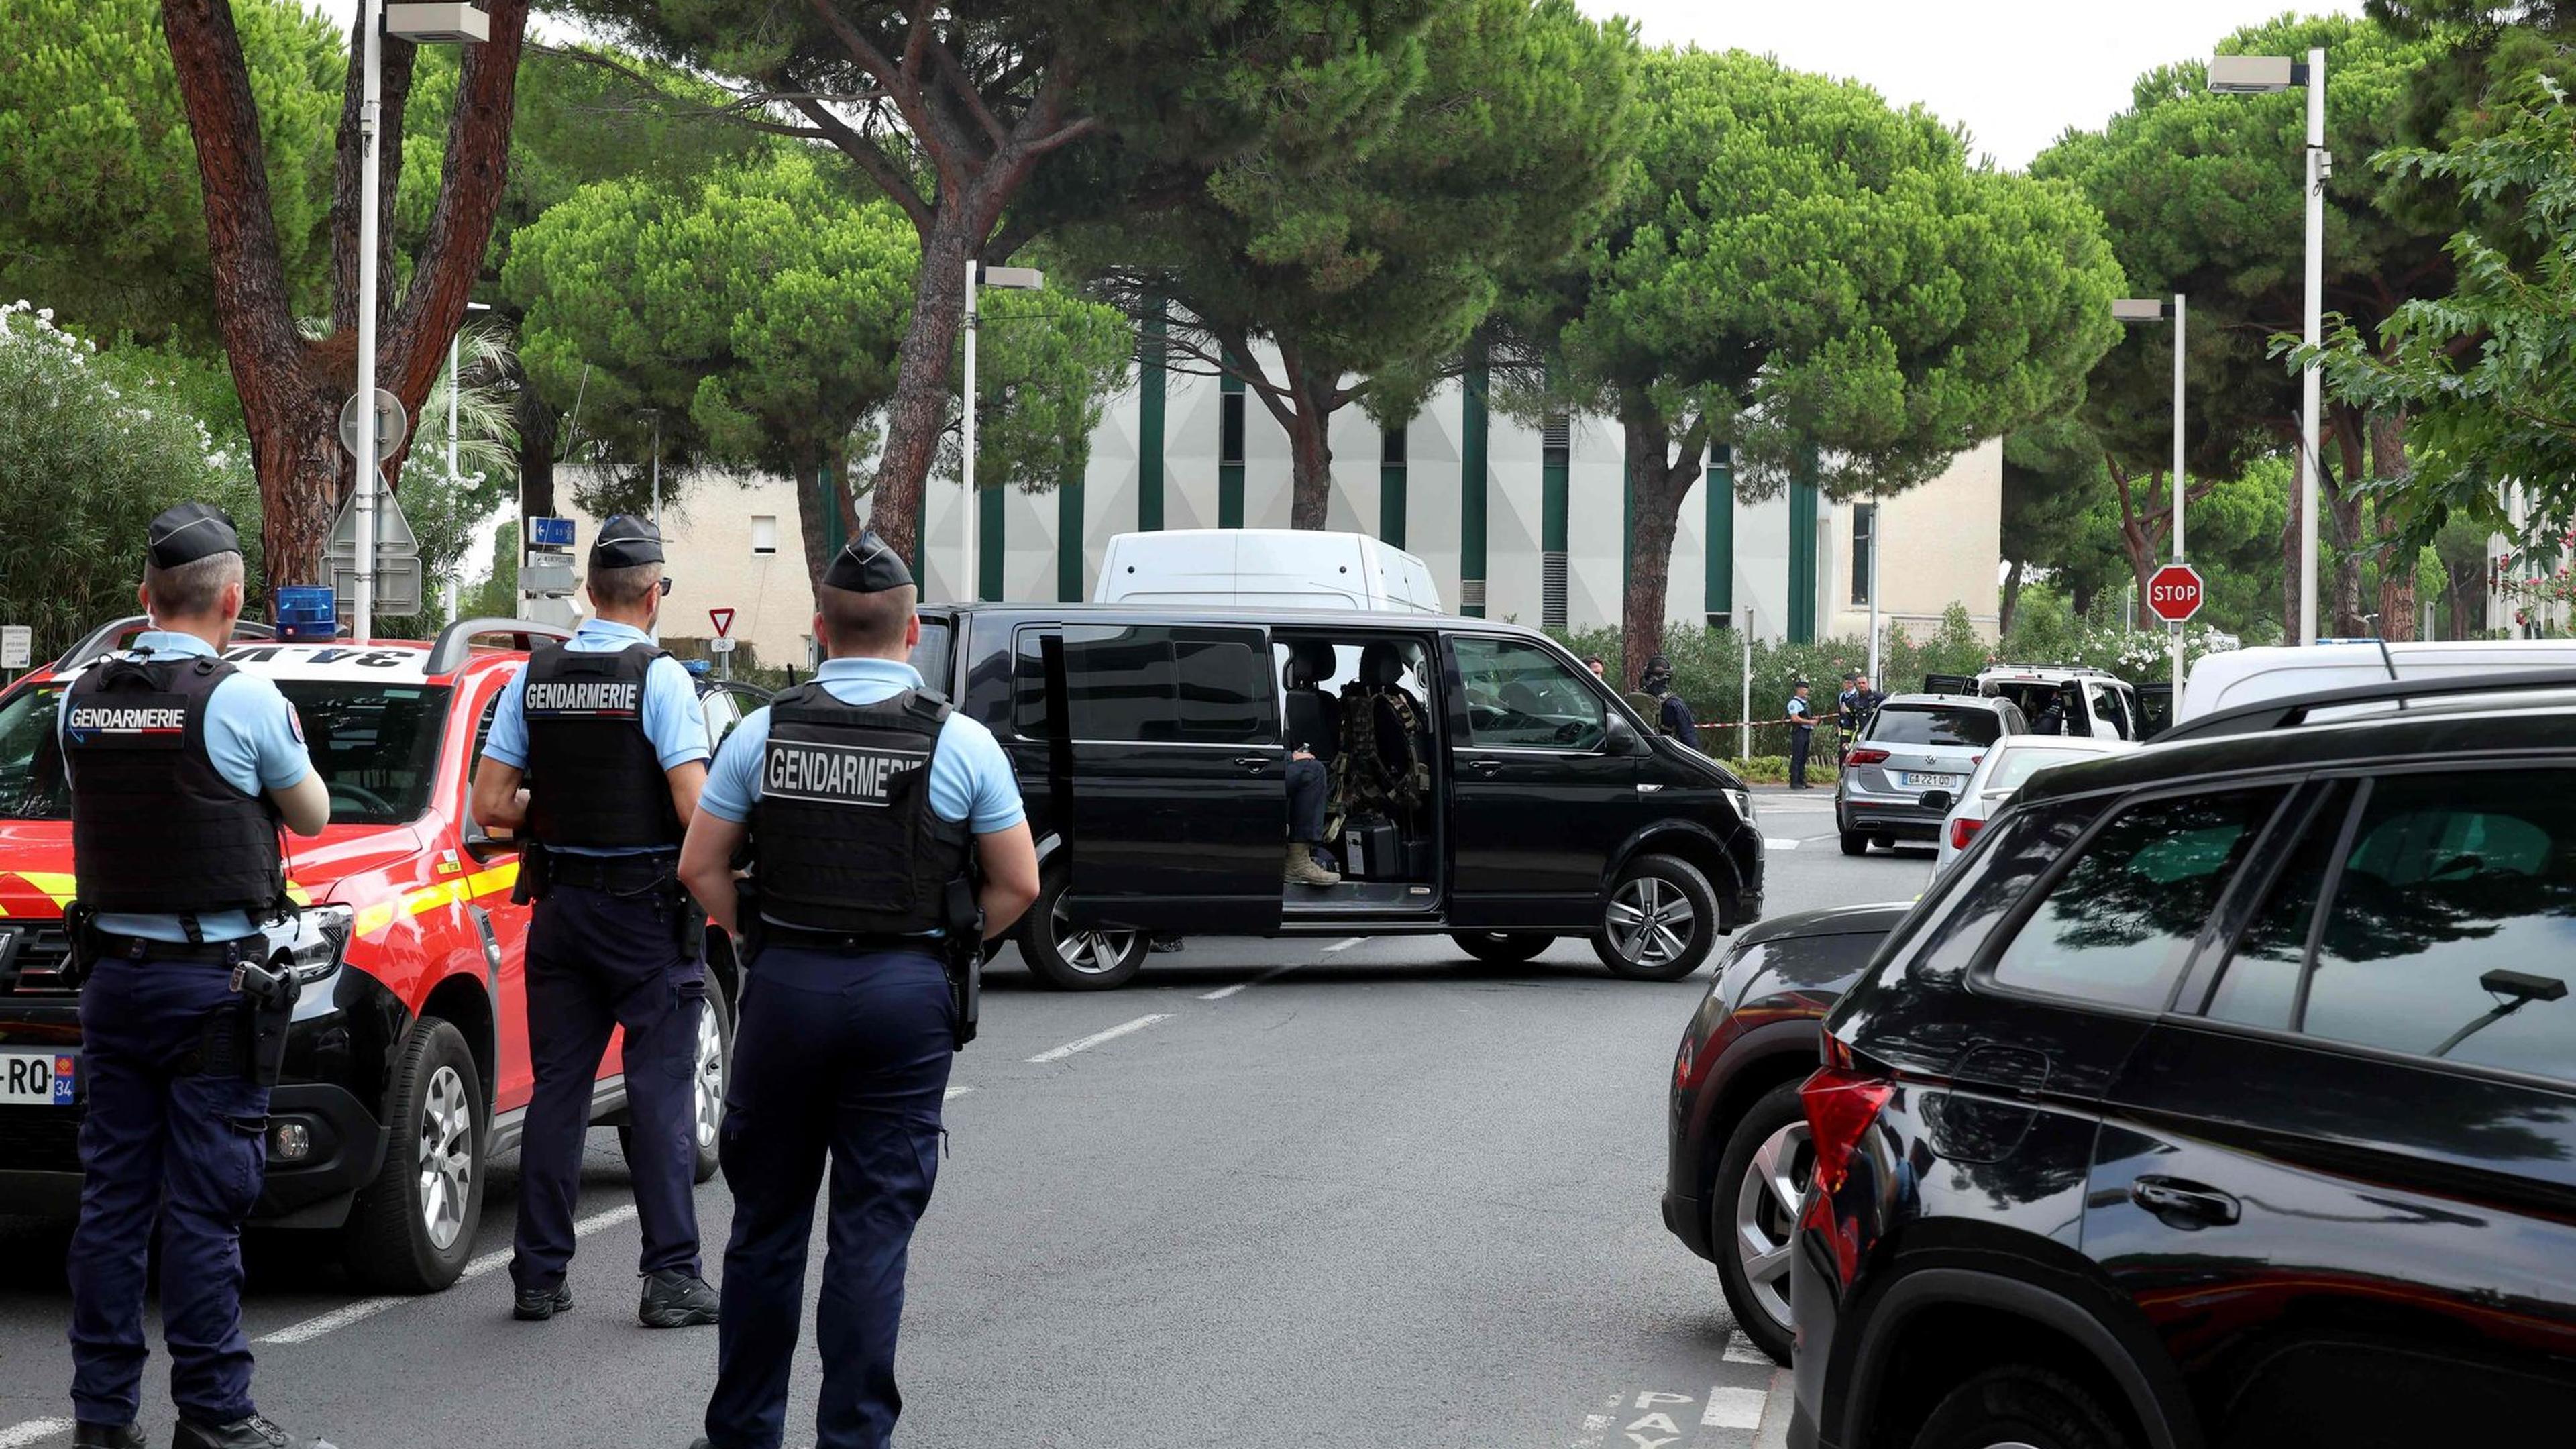
<svg viewBox="0 0 2576 1449"><path fill-rule="evenodd" d="M2517 201L2517 242L2532 260L2463 229L2450 237L2450 297L2398 307L2378 345L2347 320L2321 353L2339 397L2409 415L2414 480L2385 505L2416 541L2450 521L2512 531L2506 482L2522 485L2532 534L2576 523L2576 108L2555 83L2540 85L2496 137L2385 157L2393 173Z"/></svg>

